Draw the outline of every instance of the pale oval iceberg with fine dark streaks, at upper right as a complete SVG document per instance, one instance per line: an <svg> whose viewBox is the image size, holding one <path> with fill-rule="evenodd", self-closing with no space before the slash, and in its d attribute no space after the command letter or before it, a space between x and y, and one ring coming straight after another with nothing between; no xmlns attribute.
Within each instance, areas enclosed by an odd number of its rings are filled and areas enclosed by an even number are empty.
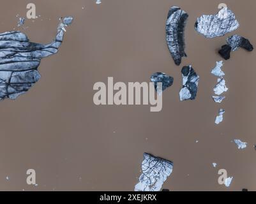
<svg viewBox="0 0 256 204"><path fill-rule="evenodd" d="M206 38L215 38L235 31L239 27L234 13L227 7L215 15L202 15L195 22L195 30Z"/></svg>

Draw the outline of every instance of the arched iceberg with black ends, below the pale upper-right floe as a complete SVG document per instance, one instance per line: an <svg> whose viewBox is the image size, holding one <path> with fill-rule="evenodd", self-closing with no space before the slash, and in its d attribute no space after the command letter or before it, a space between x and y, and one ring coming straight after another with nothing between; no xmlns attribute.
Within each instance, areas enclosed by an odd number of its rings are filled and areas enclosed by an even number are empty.
<svg viewBox="0 0 256 204"><path fill-rule="evenodd" d="M242 36L234 35L227 38L227 45L223 45L219 50L219 54L225 59L230 59L230 52L236 51L239 48L244 48L245 50L252 52L253 45L250 41Z"/></svg>

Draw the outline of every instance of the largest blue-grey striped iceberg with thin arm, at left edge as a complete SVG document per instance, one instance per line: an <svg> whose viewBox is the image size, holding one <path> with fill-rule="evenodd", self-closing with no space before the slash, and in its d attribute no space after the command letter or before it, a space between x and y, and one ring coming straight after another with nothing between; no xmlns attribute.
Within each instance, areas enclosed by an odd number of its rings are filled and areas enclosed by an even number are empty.
<svg viewBox="0 0 256 204"><path fill-rule="evenodd" d="M64 27L71 24L72 19L63 19L57 28L56 39L47 45L32 43L20 31L0 34L0 99L16 99L38 82L40 73L37 69L41 59L57 53L63 41Z"/></svg>

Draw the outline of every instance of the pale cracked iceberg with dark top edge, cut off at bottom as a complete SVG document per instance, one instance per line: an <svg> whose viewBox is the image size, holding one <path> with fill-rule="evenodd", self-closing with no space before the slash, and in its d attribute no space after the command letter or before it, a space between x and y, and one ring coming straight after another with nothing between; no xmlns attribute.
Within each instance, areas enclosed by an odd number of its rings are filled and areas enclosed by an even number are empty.
<svg viewBox="0 0 256 204"><path fill-rule="evenodd" d="M160 191L163 182L172 173L173 163L144 153L142 161L142 174L139 183L135 186L135 191Z"/></svg>

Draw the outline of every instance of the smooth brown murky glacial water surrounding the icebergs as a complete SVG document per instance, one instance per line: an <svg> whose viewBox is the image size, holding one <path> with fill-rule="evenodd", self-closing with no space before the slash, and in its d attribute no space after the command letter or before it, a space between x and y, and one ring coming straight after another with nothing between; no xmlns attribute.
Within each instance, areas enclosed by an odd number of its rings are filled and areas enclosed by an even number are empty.
<svg viewBox="0 0 256 204"><path fill-rule="evenodd" d="M194 24L226 3L240 24L232 34L256 45L256 1L95 2L33 1L40 17L26 20L28 28L21 30L31 41L50 42L59 17L72 15L74 21L58 54L41 61L40 81L17 100L0 103L0 190L133 191L143 153L149 152L173 161L163 184L170 191L255 191L256 52L232 52L223 66L229 91L221 104L215 103L216 77L210 72L222 60L218 48L229 35L206 39ZM1 33L18 29L16 15L26 16L27 3L1 0ZM165 41L165 21L174 5L189 15L188 57L181 66L174 64ZM200 76L199 92L195 101L180 102L181 68L188 64ZM107 83L107 77L149 82L158 71L174 77L163 93L162 112L150 112L149 106L94 105L94 83ZM220 108L226 112L216 126ZM245 150L231 142L236 138L248 143ZM29 168L36 170L38 186L26 184ZM219 169L234 177L229 188L218 184Z"/></svg>

